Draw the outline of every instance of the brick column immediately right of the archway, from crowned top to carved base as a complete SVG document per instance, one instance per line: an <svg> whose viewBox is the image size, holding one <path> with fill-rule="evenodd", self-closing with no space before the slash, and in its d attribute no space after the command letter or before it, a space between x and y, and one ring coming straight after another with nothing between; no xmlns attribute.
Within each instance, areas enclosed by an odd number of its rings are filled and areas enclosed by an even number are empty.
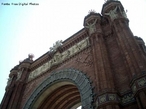
<svg viewBox="0 0 146 109"><path fill-rule="evenodd" d="M92 47L93 60L94 60L94 75L96 84L96 93L102 93L97 95L95 99L96 107L107 108L117 104L117 94L114 90L114 81L112 70L108 58L107 48L105 45L104 35L101 26L101 15L91 12L84 19L84 26L89 34L90 44ZM112 90L112 91L111 91ZM104 92L104 93L103 93ZM104 101L105 99L108 101ZM111 108L112 109L112 108Z"/></svg>

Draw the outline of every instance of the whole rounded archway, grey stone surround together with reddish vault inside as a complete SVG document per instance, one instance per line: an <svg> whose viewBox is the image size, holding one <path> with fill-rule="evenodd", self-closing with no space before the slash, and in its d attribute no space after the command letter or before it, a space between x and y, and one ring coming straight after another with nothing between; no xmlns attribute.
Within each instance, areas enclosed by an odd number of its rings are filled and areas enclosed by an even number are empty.
<svg viewBox="0 0 146 109"><path fill-rule="evenodd" d="M93 109L93 91L89 78L75 69L52 74L31 94L23 109Z"/></svg>

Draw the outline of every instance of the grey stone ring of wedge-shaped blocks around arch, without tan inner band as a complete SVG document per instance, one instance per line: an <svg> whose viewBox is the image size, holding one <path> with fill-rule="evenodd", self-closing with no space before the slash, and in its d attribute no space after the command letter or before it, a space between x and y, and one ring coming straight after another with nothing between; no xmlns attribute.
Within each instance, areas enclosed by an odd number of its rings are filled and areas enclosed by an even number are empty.
<svg viewBox="0 0 146 109"><path fill-rule="evenodd" d="M52 72L51 75L31 94L23 109L32 109L33 103L35 103L37 98L41 96L47 88L60 81L70 81L75 84L80 92L82 107L93 109L92 103L94 94L92 82L85 74L75 69L64 69L61 71Z"/></svg>

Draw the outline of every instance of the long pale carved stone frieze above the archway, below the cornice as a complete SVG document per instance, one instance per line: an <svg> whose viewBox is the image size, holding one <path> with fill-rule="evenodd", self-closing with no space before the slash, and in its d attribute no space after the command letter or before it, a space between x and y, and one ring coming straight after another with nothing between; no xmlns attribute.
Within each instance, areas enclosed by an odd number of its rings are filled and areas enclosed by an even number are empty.
<svg viewBox="0 0 146 109"><path fill-rule="evenodd" d="M59 44L58 44L59 45ZM52 66L57 65L66 59L70 58L71 56L79 53L81 50L86 48L89 45L89 39L86 38L79 43L75 44L68 50L64 51L63 53L55 53L53 58L49 60L47 63L43 64L39 68L32 71L29 75L28 81L39 76L40 74L44 73L45 71L49 70Z"/></svg>

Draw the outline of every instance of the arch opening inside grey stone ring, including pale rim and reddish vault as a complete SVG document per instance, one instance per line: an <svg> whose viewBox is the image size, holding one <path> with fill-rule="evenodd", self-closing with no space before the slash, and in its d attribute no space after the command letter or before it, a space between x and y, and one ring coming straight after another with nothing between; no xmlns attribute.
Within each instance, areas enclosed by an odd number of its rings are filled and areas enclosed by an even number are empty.
<svg viewBox="0 0 146 109"><path fill-rule="evenodd" d="M58 82L40 95L32 108L37 109L76 109L81 105L81 97L75 84Z"/></svg>

